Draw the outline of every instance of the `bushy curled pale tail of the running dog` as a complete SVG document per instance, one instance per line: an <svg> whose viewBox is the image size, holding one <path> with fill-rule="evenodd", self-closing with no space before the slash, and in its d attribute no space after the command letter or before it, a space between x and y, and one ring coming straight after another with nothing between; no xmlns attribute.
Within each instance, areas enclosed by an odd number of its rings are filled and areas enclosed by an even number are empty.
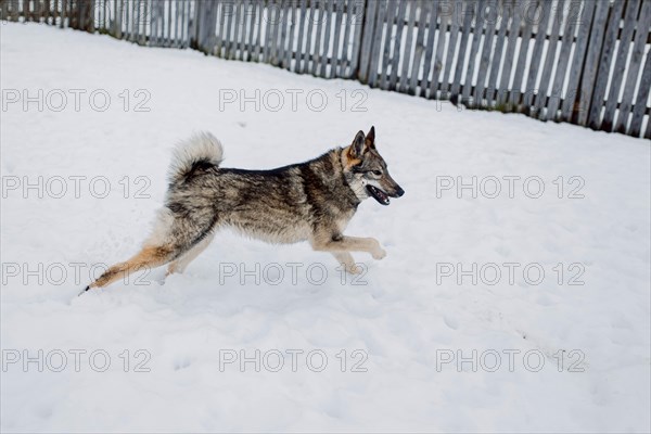
<svg viewBox="0 0 651 434"><path fill-rule="evenodd" d="M169 182L184 181L197 170L219 166L222 159L224 149L215 136L209 132L195 133L174 150L167 175Z"/></svg>

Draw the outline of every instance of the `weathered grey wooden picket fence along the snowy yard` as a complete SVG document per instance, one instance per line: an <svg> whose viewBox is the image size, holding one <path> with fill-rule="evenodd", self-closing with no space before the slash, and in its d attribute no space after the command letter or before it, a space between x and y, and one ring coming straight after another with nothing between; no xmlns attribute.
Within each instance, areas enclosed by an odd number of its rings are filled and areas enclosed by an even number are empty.
<svg viewBox="0 0 651 434"><path fill-rule="evenodd" d="M651 138L651 0L0 0L0 14Z"/></svg>

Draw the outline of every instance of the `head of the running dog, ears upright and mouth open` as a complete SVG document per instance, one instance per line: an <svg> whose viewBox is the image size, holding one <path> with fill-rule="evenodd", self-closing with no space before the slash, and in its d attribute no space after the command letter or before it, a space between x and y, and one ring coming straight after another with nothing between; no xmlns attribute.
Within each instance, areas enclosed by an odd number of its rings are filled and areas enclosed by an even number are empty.
<svg viewBox="0 0 651 434"><path fill-rule="evenodd" d="M388 175L386 163L375 148L375 128L368 135L359 131L353 143L342 153L344 176L357 197L369 196L382 205L388 205L388 197L400 197L405 190Z"/></svg>

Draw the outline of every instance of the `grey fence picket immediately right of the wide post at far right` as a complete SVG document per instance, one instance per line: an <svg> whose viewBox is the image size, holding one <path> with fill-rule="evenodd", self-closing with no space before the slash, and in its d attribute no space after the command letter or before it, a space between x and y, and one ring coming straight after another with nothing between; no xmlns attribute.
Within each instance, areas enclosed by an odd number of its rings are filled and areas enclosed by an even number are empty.
<svg viewBox="0 0 651 434"><path fill-rule="evenodd" d="M612 131L615 110L620 99L620 91L626 72L626 60L630 51L633 33L636 27L637 16L641 0L628 0L626 11L624 13L624 25L622 26L622 35L620 37L617 58L615 67L610 82L610 89L605 101L605 111L603 112L603 120L600 128L605 131Z"/></svg>

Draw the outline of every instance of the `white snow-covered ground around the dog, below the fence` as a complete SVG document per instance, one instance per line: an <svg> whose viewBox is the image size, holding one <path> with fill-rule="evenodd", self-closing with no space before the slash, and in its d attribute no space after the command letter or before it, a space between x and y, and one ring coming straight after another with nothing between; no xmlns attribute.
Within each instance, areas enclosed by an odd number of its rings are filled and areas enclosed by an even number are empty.
<svg viewBox="0 0 651 434"><path fill-rule="evenodd" d="M648 142L0 31L3 432L650 431ZM357 254L359 281L306 244L224 232L164 284L76 297L144 239L178 140L209 130L225 166L268 168L371 125L406 194L353 219L388 254ZM457 189L473 180L476 197Z"/></svg>

